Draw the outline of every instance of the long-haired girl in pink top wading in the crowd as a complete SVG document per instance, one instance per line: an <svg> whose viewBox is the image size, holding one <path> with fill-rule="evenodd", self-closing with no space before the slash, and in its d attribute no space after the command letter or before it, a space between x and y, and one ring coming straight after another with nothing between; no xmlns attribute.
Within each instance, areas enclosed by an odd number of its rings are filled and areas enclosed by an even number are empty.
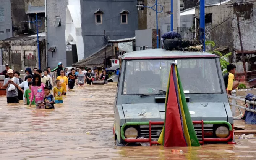
<svg viewBox="0 0 256 160"><path fill-rule="evenodd" d="M44 109L44 87L45 85L41 83L41 78L39 74L35 74L33 78L33 84L31 87L31 98L30 98L30 104L34 99L35 96L35 103L37 109ZM32 100L32 101L31 101Z"/></svg>

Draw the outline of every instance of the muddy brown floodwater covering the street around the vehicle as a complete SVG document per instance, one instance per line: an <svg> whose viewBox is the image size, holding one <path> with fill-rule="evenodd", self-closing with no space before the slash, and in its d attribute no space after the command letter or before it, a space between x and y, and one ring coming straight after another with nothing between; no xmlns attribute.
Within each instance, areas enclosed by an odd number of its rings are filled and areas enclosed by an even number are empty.
<svg viewBox="0 0 256 160"><path fill-rule="evenodd" d="M75 88L55 110L7 105L0 97L0 160L252 160L256 139L237 145L118 147L113 138L116 84ZM244 125L243 122L238 122Z"/></svg>

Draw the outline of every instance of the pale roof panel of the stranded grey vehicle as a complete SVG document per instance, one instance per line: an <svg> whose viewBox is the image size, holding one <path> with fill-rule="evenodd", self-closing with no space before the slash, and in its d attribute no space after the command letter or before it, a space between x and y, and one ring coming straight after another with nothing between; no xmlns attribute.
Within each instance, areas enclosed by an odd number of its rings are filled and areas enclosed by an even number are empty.
<svg viewBox="0 0 256 160"><path fill-rule="evenodd" d="M183 52L183 51L167 51L165 49L147 49L147 50L141 50L141 51L134 51L125 53L122 58L128 58L129 57L190 57L190 56L217 56L215 54L207 53L207 52Z"/></svg>

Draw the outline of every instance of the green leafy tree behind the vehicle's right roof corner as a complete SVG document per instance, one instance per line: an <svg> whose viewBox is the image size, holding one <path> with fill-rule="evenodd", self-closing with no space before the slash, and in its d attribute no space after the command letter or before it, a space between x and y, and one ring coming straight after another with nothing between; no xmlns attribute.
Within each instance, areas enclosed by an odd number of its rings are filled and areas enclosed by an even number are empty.
<svg viewBox="0 0 256 160"><path fill-rule="evenodd" d="M205 45L209 45L209 46L212 46L212 47L216 46L214 41L206 41ZM227 65L229 65L228 57L230 55L232 55L232 53L229 52L226 55L223 55L219 51L208 51L208 52L220 56L220 66L221 66L222 74L226 74L228 72L227 71Z"/></svg>

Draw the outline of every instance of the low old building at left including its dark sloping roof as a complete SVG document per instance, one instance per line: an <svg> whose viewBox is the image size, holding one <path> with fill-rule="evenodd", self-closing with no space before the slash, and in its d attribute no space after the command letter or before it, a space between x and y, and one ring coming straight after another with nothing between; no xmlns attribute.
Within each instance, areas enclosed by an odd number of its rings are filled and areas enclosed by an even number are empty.
<svg viewBox="0 0 256 160"><path fill-rule="evenodd" d="M41 69L46 67L45 32L39 34ZM2 64L9 64L13 70L38 68L37 35L19 35L0 41Z"/></svg>

